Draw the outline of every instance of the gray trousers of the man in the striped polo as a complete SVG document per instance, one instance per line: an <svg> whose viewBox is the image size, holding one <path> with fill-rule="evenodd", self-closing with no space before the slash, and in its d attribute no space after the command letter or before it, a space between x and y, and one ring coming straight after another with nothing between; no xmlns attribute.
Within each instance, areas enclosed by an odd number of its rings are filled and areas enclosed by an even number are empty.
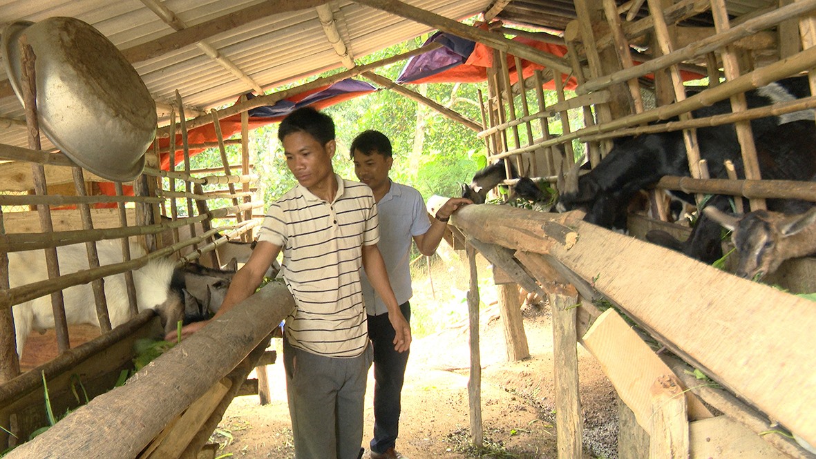
<svg viewBox="0 0 816 459"><path fill-rule="evenodd" d="M283 338L286 395L295 438L295 459L357 459L362 444L366 378L374 358L315 355Z"/></svg>

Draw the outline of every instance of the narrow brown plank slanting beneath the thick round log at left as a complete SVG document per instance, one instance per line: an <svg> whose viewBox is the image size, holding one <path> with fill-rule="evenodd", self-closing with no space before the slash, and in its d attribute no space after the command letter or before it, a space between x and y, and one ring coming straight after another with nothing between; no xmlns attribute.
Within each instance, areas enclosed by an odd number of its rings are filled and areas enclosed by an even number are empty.
<svg viewBox="0 0 816 459"><path fill-rule="evenodd" d="M148 447L149 452L145 452L140 458L179 457L232 385L233 383L226 377L215 383L209 391L206 391L184 411L178 421L163 430L155 447Z"/></svg>

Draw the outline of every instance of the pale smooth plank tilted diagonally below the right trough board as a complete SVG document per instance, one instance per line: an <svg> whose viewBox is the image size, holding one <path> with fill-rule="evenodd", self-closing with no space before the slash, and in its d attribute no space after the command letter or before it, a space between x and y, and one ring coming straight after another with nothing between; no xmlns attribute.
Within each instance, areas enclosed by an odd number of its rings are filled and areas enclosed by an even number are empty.
<svg viewBox="0 0 816 459"><path fill-rule="evenodd" d="M635 413L637 423L651 431L652 385L659 377L673 375L672 369L612 308L604 311L583 335L583 345L595 356L620 398ZM696 395L687 392L685 398L691 417L712 416Z"/></svg>

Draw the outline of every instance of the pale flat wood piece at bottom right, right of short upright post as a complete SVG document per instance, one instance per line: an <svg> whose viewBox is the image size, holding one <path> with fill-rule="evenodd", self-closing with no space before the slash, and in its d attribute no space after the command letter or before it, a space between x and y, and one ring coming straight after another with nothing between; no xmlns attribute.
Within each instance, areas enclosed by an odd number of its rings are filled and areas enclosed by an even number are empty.
<svg viewBox="0 0 816 459"><path fill-rule="evenodd" d="M788 457L763 441L759 435L727 416L711 417L689 423L691 459L752 457L781 459Z"/></svg>

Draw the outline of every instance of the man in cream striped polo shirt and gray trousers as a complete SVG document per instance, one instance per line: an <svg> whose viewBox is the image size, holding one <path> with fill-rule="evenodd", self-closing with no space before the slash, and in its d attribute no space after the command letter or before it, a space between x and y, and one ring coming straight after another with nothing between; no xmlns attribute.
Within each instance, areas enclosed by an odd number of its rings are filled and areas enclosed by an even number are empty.
<svg viewBox="0 0 816 459"><path fill-rule="evenodd" d="M373 358L361 267L386 298L388 319L397 330L396 351L408 350L410 327L377 249L374 196L366 185L341 179L332 168L334 122L313 108L299 108L284 118L277 136L299 184L269 206L258 245L233 277L216 316L254 293L283 251L282 274L295 298L283 340L295 458L358 459Z"/></svg>

